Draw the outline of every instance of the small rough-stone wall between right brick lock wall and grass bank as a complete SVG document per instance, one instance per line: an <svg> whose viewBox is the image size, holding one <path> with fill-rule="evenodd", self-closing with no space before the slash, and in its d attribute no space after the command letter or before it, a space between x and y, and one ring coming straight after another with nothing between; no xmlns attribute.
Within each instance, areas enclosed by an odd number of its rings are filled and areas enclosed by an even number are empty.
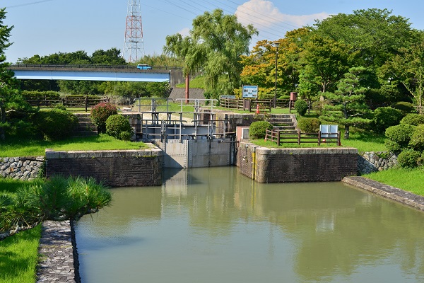
<svg viewBox="0 0 424 283"><path fill-rule="evenodd" d="M360 154L358 158L358 173L369 174L387 170L397 165L397 156L387 151L370 151Z"/></svg>

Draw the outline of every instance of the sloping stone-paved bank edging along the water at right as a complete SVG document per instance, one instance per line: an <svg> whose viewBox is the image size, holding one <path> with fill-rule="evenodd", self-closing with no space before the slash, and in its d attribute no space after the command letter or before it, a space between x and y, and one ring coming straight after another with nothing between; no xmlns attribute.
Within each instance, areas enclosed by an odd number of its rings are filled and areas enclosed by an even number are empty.
<svg viewBox="0 0 424 283"><path fill-rule="evenodd" d="M401 202L402 204L406 204L409 207L414 207L424 211L424 197L413 194L412 192L406 192L397 187L385 185L375 180L370 180L363 177L345 177L341 181L343 183L354 185L355 187L359 187L363 190L375 193L376 195L387 197L388 199L394 200L395 202Z"/></svg>

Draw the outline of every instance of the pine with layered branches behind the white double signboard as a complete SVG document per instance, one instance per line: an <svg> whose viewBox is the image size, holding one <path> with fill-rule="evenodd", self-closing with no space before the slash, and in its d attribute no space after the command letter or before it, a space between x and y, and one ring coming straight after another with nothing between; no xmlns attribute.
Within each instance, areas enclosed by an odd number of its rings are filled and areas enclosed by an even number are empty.
<svg viewBox="0 0 424 283"><path fill-rule="evenodd" d="M349 139L351 126L360 126L370 122L366 114L370 109L365 103L365 80L364 67L353 67L349 69L344 78L338 81L334 93L325 93L325 97L331 101L331 105L324 106L323 115L320 119L337 122L345 129L344 138Z"/></svg>

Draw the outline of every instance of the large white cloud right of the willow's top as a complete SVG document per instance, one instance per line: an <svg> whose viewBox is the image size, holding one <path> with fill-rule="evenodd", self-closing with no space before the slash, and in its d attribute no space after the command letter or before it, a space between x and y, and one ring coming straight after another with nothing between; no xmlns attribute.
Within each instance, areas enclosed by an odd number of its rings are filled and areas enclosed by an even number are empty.
<svg viewBox="0 0 424 283"><path fill-rule="evenodd" d="M269 28L272 25L311 25L315 19L322 20L329 16L328 13L314 13L312 15L288 15L281 13L272 1L249 0L237 7L235 11L240 23L247 25L251 23L256 28ZM295 28L295 27L293 27Z"/></svg>

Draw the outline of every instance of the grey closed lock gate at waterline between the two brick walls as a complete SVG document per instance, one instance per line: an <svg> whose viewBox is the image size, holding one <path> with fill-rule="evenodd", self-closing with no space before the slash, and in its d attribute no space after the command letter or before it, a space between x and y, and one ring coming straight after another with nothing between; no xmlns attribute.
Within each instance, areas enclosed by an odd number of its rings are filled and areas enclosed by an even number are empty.
<svg viewBox="0 0 424 283"><path fill-rule="evenodd" d="M235 144L222 139L156 141L163 150L163 167L198 168L230 166L235 162Z"/></svg>

